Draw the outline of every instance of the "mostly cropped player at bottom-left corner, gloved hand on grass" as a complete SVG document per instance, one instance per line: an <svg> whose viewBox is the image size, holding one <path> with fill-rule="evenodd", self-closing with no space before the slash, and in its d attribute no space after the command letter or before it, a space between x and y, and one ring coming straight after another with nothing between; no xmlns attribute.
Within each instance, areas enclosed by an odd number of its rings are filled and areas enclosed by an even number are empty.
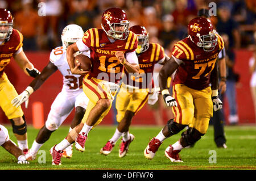
<svg viewBox="0 0 256 181"><path fill-rule="evenodd" d="M28 164L25 155L16 144L10 140L8 130L0 124L0 146L9 151L10 154L14 155L18 159L19 164Z"/></svg>

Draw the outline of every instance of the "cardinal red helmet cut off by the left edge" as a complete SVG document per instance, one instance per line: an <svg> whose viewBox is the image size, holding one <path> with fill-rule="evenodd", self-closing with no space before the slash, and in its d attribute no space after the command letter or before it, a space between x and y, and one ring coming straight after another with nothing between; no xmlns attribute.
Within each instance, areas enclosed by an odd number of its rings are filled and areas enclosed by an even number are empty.
<svg viewBox="0 0 256 181"><path fill-rule="evenodd" d="M0 41L10 38L13 32L13 16L6 9L0 9Z"/></svg>

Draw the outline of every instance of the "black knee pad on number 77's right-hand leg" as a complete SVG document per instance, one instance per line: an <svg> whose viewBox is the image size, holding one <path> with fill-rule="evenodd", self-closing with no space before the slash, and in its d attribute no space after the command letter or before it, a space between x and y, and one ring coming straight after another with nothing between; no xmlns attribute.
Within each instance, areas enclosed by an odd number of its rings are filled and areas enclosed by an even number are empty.
<svg viewBox="0 0 256 181"><path fill-rule="evenodd" d="M188 128L186 131L184 131L181 134L181 138L183 138L183 144L185 146L193 145L196 143L196 141L201 139L201 136L204 136L204 134L197 131L195 128Z"/></svg>

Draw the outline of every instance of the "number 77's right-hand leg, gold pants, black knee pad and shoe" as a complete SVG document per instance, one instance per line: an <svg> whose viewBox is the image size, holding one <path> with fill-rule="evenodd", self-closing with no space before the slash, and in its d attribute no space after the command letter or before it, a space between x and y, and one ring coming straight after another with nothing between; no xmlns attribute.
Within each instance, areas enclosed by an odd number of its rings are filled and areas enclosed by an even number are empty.
<svg viewBox="0 0 256 181"><path fill-rule="evenodd" d="M201 136L207 132L210 117L213 115L213 104L210 87L204 90L192 90L195 113L189 128L181 134L180 139L175 144L168 146L165 151L166 157L172 162L182 162L179 152L191 145L194 145Z"/></svg>

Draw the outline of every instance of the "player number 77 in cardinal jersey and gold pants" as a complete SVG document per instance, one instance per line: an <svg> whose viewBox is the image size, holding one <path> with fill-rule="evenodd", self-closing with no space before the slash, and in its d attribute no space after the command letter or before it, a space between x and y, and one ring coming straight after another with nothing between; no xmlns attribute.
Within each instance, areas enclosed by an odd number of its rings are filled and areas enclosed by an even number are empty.
<svg viewBox="0 0 256 181"><path fill-rule="evenodd" d="M213 110L222 108L218 98L218 53L224 48L222 38L216 33L209 19L195 18L188 24L188 37L172 48L172 57L159 73L159 87L167 106L171 106L175 118L168 121L160 133L152 138L144 150L144 156L154 158L166 138L181 134L175 144L164 151L171 162L183 162L181 149L195 144L208 129ZM167 90L167 78L174 73L173 95ZM210 86L211 85L211 86Z"/></svg>

